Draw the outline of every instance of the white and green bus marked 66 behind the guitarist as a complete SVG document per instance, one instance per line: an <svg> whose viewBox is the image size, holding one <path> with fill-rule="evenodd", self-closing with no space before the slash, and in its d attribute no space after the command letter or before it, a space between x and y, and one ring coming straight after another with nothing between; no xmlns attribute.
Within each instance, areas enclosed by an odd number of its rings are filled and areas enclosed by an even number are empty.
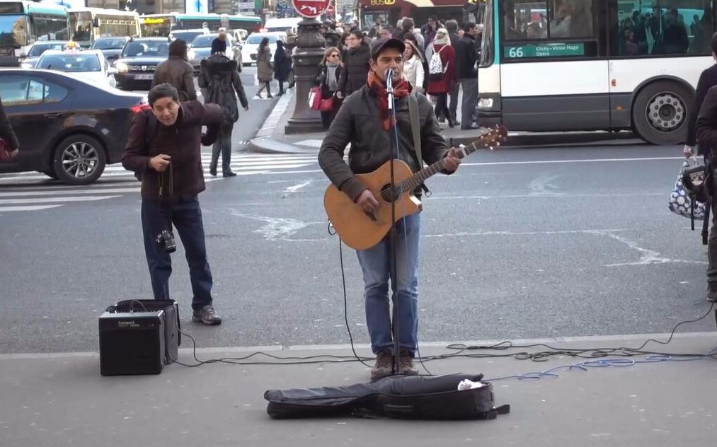
<svg viewBox="0 0 717 447"><path fill-rule="evenodd" d="M480 125L682 143L714 0L480 0Z"/></svg>

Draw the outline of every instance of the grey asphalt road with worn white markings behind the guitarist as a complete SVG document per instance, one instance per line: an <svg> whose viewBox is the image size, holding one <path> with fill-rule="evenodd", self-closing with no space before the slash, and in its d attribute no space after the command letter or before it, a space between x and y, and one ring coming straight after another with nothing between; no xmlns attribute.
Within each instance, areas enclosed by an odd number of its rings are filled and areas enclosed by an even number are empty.
<svg viewBox="0 0 717 447"><path fill-rule="evenodd" d="M252 119L243 114L236 128ZM670 332L704 314L706 249L667 207L679 154L651 145L505 149L432 178L422 213L420 340ZM200 347L348 342L323 173L313 158L246 157L265 170L212 181L200 196L222 326L189 322L181 244L172 255L184 329ZM34 193L42 202L67 190L57 188L0 181L0 200ZM0 211L0 352L97 350L105 307L151 297L136 188ZM367 342L359 265L350 249L343 259L348 321L354 339ZM681 330L714 331L715 322Z"/></svg>

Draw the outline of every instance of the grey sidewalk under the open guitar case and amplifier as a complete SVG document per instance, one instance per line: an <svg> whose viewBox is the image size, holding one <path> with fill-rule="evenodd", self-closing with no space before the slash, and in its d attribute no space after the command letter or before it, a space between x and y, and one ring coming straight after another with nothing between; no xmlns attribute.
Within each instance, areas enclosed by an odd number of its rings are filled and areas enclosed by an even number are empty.
<svg viewBox="0 0 717 447"><path fill-rule="evenodd" d="M185 330L191 333L191 325ZM636 335L543 341L564 348L639 347L648 337L667 339ZM651 343L647 349L707 353L716 342L714 332L686 333L676 335L670 345ZM184 345L180 360L193 362L187 348ZM257 350L281 357L351 355L348 347L221 348L198 350L197 355L206 360L242 357ZM544 348L532 351L536 350ZM520 351L524 350L469 353ZM422 345L424 356L447 352L445 344ZM359 355L369 351L361 347ZM272 361L261 356L252 360ZM498 378L585 360L564 355L545 362L511 356L452 358L426 366L434 374L483 372L486 378ZM0 355L0 446L703 447L717 435L714 360L556 373L558 378L493 382L495 405L511 405L511 413L496 420L272 420L262 398L265 390L360 383L369 377L368 369L357 362L213 363L194 368L173 364L160 375L105 378L94 353Z"/></svg>

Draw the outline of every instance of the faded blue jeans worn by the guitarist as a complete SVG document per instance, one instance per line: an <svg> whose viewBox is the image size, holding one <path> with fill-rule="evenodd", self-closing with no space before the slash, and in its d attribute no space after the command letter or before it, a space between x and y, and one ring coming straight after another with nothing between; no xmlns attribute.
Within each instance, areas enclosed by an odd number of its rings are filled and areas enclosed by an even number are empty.
<svg viewBox="0 0 717 447"><path fill-rule="evenodd" d="M396 278L391 290L397 292L399 345L414 355L418 345L418 250L421 231L419 213L396 223ZM391 274L391 238L387 235L368 250L356 250L364 271L364 299L366 327L371 337L371 350L393 352L391 311L389 308L389 279Z"/></svg>

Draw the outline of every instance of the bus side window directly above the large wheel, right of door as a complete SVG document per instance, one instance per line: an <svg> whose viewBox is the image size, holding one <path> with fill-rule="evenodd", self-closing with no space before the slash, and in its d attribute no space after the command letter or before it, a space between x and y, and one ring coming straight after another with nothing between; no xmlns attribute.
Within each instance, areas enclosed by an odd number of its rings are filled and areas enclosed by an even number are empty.
<svg viewBox="0 0 717 447"><path fill-rule="evenodd" d="M612 29L618 45L612 52L619 56L711 53L715 27L712 10L703 1L643 0L640 8L620 9L612 17L617 19Z"/></svg>

